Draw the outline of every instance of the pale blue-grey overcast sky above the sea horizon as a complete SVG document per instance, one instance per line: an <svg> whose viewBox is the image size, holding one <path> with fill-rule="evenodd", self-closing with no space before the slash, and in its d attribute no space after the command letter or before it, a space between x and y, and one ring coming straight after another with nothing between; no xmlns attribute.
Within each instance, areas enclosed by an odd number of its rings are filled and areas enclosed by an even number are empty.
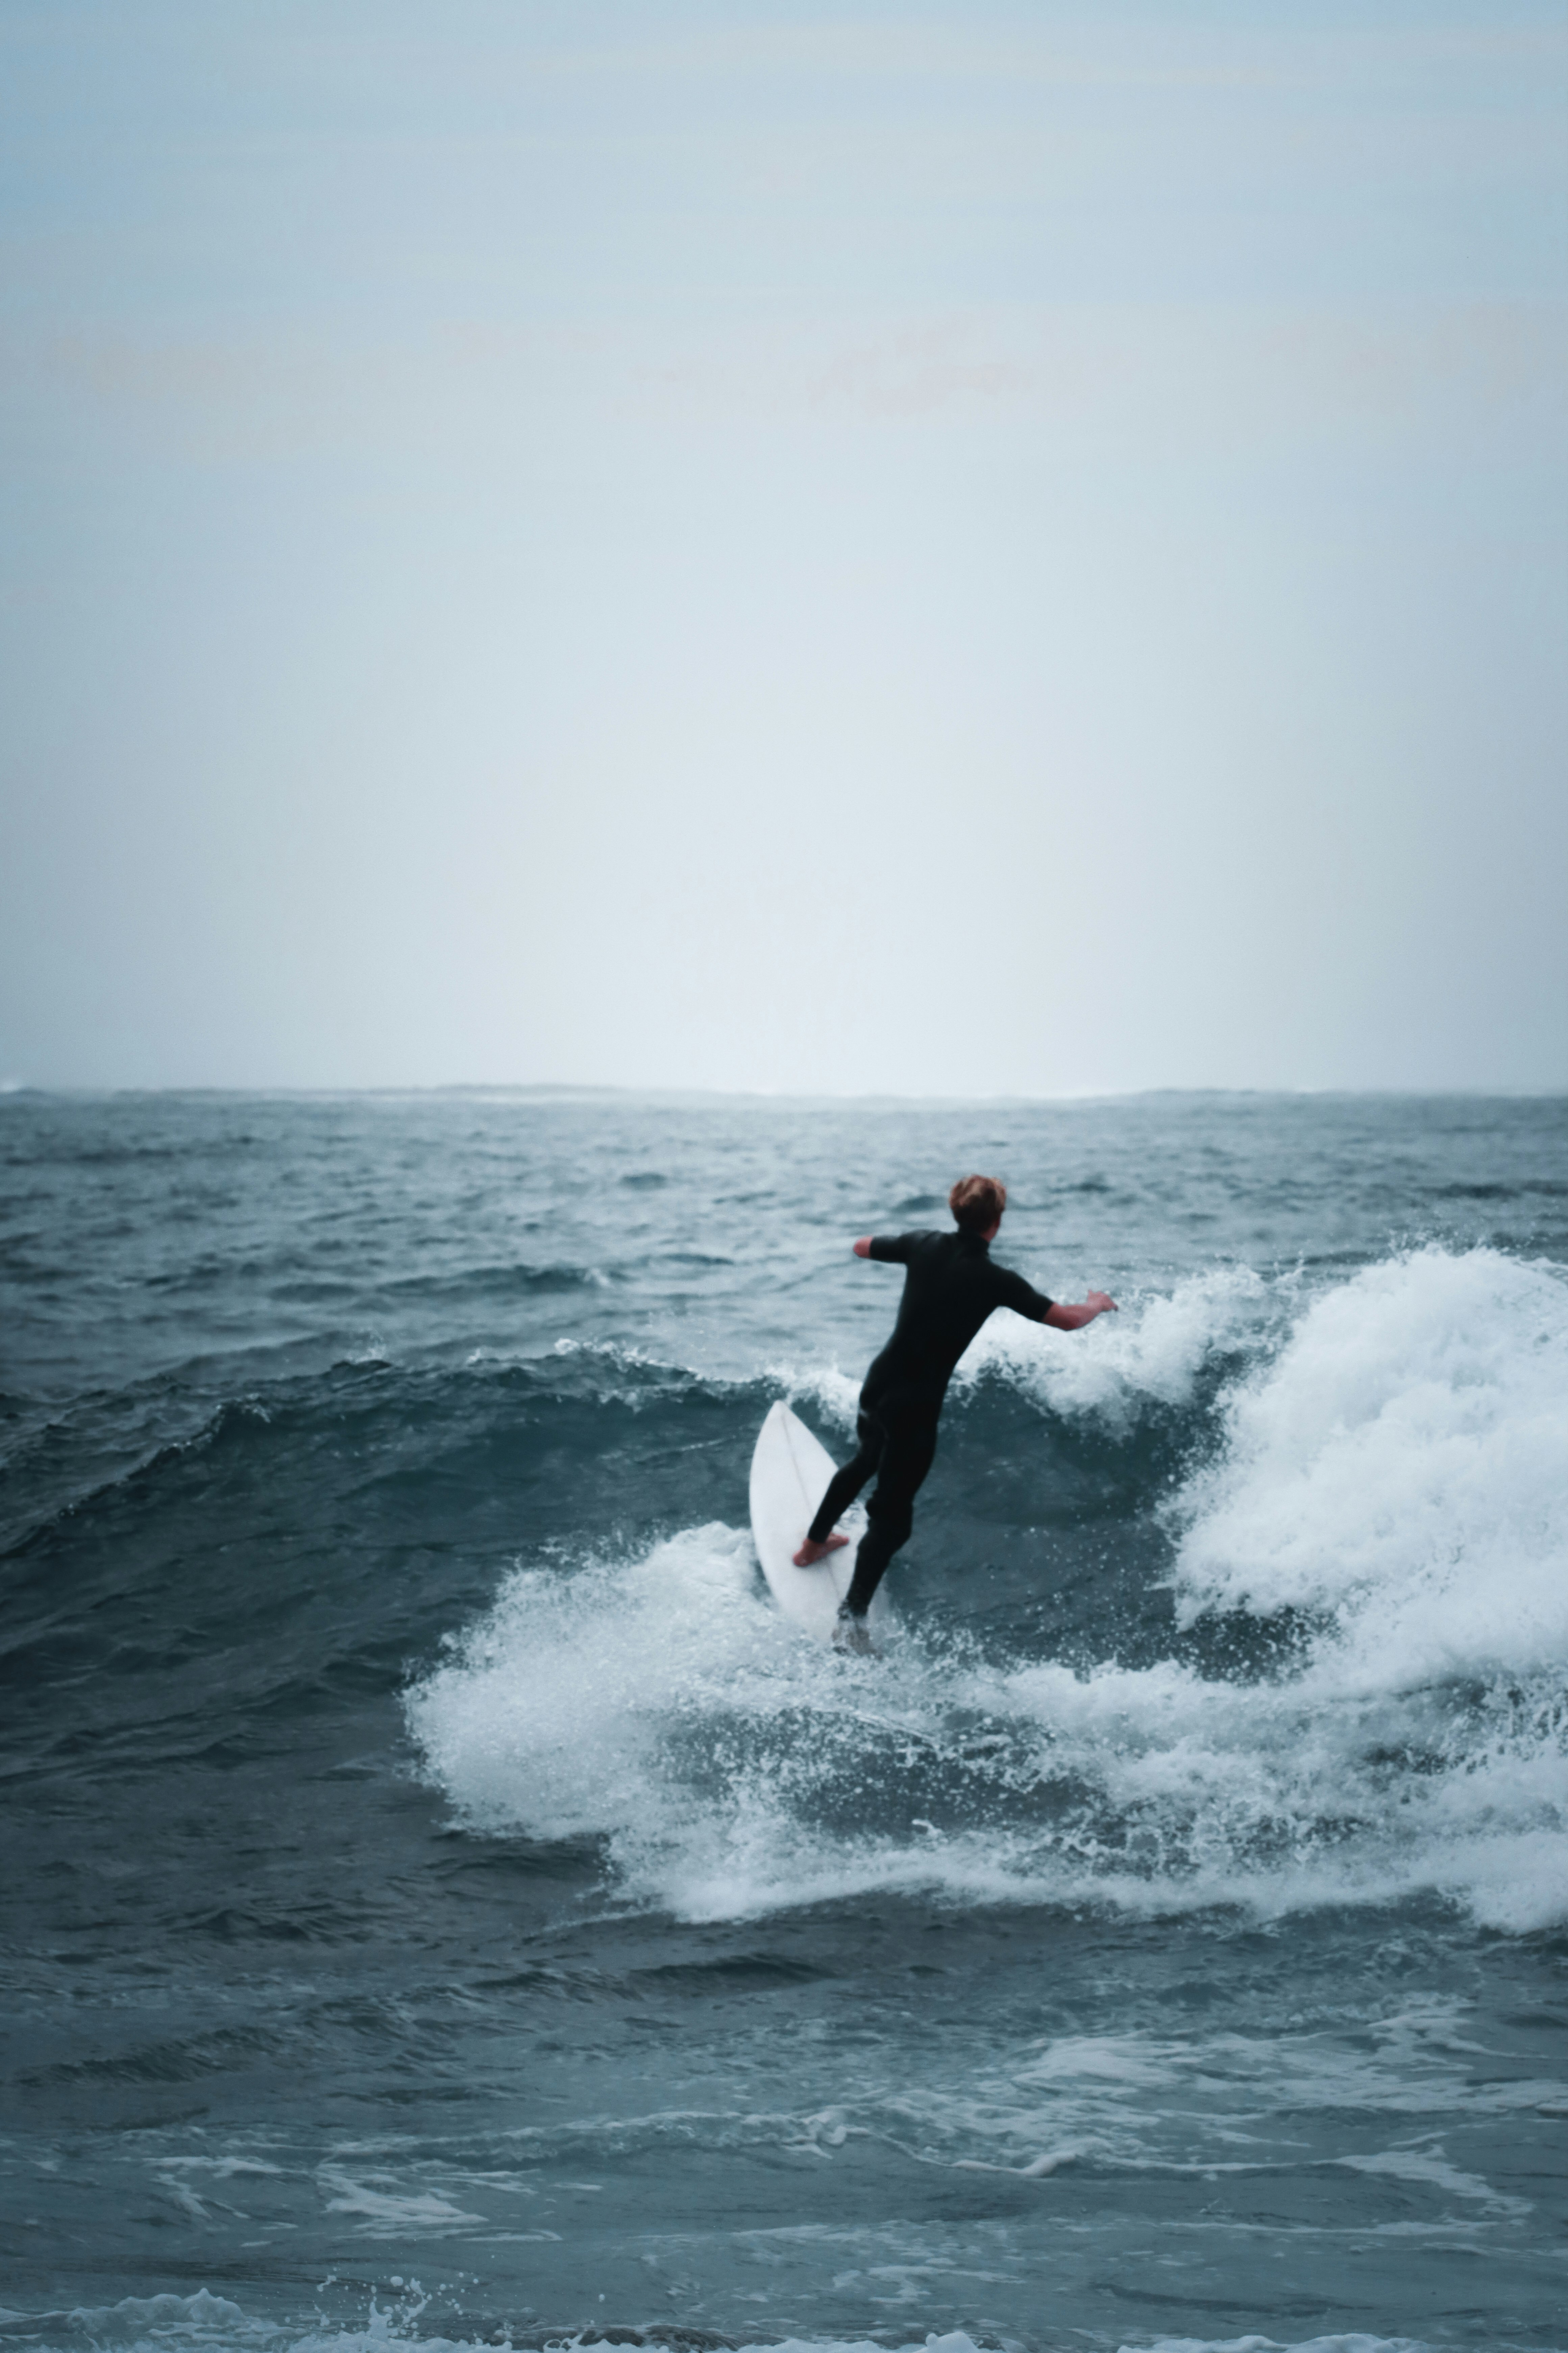
<svg viewBox="0 0 1568 2353"><path fill-rule="evenodd" d="M0 1080L1568 1087L1568 12L0 12Z"/></svg>

